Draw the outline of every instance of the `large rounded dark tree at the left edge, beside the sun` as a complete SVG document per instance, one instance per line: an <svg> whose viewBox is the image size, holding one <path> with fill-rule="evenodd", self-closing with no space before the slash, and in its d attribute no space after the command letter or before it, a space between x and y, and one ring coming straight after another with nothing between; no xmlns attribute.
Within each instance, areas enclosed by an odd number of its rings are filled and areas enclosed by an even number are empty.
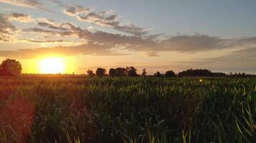
<svg viewBox="0 0 256 143"><path fill-rule="evenodd" d="M22 64L16 59L6 59L0 65L0 75L19 76L22 73Z"/></svg>

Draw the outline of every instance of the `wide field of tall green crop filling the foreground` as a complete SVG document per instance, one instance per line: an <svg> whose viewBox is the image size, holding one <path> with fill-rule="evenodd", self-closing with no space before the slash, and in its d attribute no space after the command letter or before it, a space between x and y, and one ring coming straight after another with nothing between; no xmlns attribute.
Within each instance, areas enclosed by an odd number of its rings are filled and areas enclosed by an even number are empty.
<svg viewBox="0 0 256 143"><path fill-rule="evenodd" d="M256 79L0 79L0 142L256 142Z"/></svg>

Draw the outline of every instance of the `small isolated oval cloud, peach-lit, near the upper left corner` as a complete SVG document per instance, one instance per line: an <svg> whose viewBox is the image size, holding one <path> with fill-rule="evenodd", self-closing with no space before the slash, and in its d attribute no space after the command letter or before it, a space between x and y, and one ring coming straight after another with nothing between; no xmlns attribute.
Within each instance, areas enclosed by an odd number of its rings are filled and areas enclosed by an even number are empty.
<svg viewBox="0 0 256 143"><path fill-rule="evenodd" d="M17 12L13 12L12 14L9 14L8 19L11 21L19 21L22 23L28 23L28 22L34 21L34 19L32 19L31 16L28 16L26 14L17 13Z"/></svg>

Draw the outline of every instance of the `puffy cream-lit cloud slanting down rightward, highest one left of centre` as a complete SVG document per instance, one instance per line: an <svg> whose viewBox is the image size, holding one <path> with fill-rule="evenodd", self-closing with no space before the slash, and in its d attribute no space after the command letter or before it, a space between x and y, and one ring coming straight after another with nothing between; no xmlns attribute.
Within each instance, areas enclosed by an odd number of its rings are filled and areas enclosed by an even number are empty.
<svg viewBox="0 0 256 143"><path fill-rule="evenodd" d="M122 24L117 21L118 14L114 14L114 11L100 11L95 12L93 9L89 9L83 6L65 6L64 13L68 16L76 16L79 21L86 21L91 24L99 26L110 27L118 31L132 34L134 36L143 36L147 34L147 31L134 24Z"/></svg>

